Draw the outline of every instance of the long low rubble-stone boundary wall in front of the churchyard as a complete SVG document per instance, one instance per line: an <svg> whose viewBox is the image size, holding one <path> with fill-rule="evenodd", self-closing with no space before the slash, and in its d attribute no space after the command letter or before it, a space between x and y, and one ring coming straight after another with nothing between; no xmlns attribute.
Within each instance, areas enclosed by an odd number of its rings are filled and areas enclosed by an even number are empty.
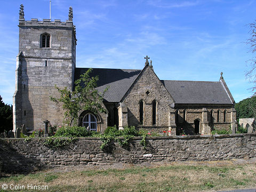
<svg viewBox="0 0 256 192"><path fill-rule="evenodd" d="M157 161L215 161L256 157L256 134L134 137L129 146L112 142L109 151L100 149L100 138L78 138L62 148L43 145L45 138L0 139L0 171L31 172L57 166L105 165Z"/></svg>

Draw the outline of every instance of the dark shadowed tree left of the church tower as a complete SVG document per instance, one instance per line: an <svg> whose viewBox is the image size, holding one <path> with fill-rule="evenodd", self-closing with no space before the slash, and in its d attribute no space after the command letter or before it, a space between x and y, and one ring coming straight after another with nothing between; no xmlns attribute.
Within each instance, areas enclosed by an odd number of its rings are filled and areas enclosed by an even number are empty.
<svg viewBox="0 0 256 192"><path fill-rule="evenodd" d="M12 106L3 102L0 95L0 133L10 131L12 127Z"/></svg>

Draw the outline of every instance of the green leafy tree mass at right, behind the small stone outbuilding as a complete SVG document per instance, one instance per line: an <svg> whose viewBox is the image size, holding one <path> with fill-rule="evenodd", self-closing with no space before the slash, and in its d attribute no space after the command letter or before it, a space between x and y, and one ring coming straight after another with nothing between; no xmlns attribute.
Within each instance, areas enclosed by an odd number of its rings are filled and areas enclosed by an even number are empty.
<svg viewBox="0 0 256 192"><path fill-rule="evenodd" d="M251 118L256 117L256 96L244 99L235 104L236 118Z"/></svg>

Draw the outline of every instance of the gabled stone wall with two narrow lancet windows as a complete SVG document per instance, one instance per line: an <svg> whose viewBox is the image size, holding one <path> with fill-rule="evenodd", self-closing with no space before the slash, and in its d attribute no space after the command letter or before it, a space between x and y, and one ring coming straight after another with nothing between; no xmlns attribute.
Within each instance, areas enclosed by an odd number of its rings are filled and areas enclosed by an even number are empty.
<svg viewBox="0 0 256 192"><path fill-rule="evenodd" d="M139 102L141 100L145 103L142 125L139 122ZM173 99L161 81L159 81L153 69L148 66L142 70L137 80L124 96L123 103L127 106L128 125L140 125L142 128L143 126L153 126L153 100L157 101L156 126L170 126L169 104L173 102Z"/></svg>

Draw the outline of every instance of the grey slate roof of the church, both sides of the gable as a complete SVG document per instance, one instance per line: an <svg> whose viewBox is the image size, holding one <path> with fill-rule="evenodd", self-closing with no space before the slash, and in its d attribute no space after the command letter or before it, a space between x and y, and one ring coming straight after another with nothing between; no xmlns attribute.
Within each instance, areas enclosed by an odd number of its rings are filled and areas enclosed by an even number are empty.
<svg viewBox="0 0 256 192"><path fill-rule="evenodd" d="M89 68L76 68L75 80ZM105 101L120 102L126 91L140 74L137 69L93 68L91 76L99 76L97 90L110 86ZM184 104L233 104L221 82L161 80L175 103Z"/></svg>

